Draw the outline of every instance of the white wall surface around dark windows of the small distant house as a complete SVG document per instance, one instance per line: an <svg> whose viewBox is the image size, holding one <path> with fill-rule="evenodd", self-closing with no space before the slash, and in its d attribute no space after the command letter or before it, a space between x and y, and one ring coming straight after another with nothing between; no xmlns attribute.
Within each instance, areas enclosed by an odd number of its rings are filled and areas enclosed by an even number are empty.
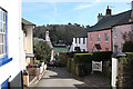
<svg viewBox="0 0 133 89"><path fill-rule="evenodd" d="M86 38L85 38L85 43L83 44L83 38L80 38L81 39L81 43L79 43L79 38L76 38L76 43L75 43L75 38L73 38L73 51L74 51L74 48L75 47L80 47L81 48L81 51L83 51L83 49L85 49L85 51L88 51L86 49Z"/></svg>

